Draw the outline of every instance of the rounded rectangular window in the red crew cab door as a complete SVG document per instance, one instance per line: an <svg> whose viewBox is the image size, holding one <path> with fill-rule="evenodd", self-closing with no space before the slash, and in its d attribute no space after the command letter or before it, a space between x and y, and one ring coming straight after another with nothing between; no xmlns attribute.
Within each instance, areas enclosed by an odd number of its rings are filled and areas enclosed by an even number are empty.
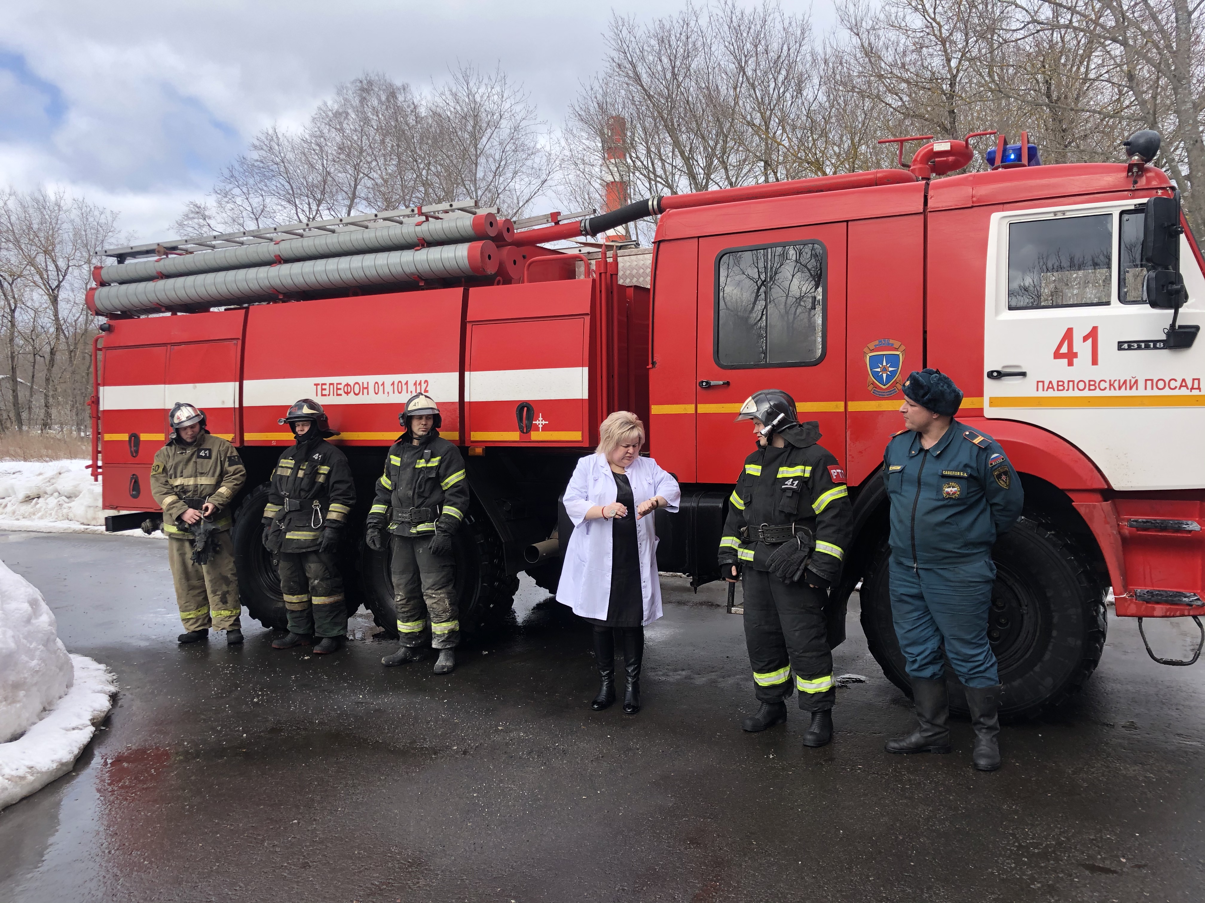
<svg viewBox="0 0 1205 903"><path fill-rule="evenodd" d="M784 367L824 358L824 246L733 248L716 258L716 364Z"/></svg>

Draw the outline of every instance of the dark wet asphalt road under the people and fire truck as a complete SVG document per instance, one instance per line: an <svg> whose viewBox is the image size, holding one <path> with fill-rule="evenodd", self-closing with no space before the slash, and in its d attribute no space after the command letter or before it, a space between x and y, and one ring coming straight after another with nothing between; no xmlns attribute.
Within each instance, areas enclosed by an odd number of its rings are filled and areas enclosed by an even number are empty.
<svg viewBox="0 0 1205 903"><path fill-rule="evenodd" d="M516 622L439 678L383 669L374 639L274 651L246 620L241 648L177 648L161 541L0 533L0 557L122 686L76 771L0 813L0 901L1205 897L1205 665L1154 665L1129 620L1081 698L1006 727L980 774L965 722L953 755L882 752L911 715L856 613L836 673L868 680L805 750L794 708L740 731L741 624L715 585L663 582L627 716L589 710L589 628L527 582Z"/></svg>

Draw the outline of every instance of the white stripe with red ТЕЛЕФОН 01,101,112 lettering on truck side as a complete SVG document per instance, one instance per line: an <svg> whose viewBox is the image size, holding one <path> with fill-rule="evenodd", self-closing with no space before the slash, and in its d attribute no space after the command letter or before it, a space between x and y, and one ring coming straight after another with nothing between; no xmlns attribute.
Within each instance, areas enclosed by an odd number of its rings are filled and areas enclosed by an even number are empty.
<svg viewBox="0 0 1205 903"><path fill-rule="evenodd" d="M460 399L460 374L387 373L384 376L322 376L289 379L247 379L242 384L245 407L288 407L299 399L319 405L401 405L424 393L436 403L454 405Z"/></svg>

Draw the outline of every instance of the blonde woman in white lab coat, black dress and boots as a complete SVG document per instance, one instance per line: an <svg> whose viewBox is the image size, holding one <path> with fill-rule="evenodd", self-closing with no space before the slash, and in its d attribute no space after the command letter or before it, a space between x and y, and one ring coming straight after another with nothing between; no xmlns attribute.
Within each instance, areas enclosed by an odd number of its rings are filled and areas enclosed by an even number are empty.
<svg viewBox="0 0 1205 903"><path fill-rule="evenodd" d="M594 625L599 695L590 708L615 702L615 635L623 638L628 674L623 710L640 712L640 667L645 626L662 616L657 579L659 508L678 509L677 480L641 458L645 425L629 411L617 411L599 429L599 447L577 462L565 489L565 510L574 532L565 548L557 598Z"/></svg>

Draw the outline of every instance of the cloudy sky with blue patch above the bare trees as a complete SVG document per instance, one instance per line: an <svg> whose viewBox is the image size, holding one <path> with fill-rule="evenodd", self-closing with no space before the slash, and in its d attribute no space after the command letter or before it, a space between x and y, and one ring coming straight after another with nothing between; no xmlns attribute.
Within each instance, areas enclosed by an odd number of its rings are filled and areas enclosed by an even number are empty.
<svg viewBox="0 0 1205 903"><path fill-rule="evenodd" d="M0 185L59 185L120 211L133 240L172 237L186 200L258 129L302 122L365 70L429 84L458 60L501 64L556 125L598 70L611 11L649 18L684 0L110 0L6 5L0 30ZM828 0L784 0L833 20Z"/></svg>

